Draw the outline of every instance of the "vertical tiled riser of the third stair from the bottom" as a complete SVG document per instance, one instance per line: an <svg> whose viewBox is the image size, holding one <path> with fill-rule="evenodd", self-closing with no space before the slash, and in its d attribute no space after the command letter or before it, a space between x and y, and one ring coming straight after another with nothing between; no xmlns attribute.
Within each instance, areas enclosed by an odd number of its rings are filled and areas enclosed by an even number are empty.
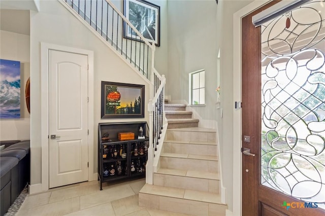
<svg viewBox="0 0 325 216"><path fill-rule="evenodd" d="M219 172L218 161L188 158L171 158L160 156L160 167L170 169L184 169L207 172Z"/></svg>

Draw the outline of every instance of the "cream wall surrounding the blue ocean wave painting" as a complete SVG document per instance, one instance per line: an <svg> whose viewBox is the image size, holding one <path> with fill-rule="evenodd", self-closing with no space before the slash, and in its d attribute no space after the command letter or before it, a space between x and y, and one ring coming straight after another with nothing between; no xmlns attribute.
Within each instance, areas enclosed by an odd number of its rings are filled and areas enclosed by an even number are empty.
<svg viewBox="0 0 325 216"><path fill-rule="evenodd" d="M30 118L26 107L25 86L29 78L29 35L1 30L0 58L20 61L20 119L0 119L0 139L29 139Z"/></svg>

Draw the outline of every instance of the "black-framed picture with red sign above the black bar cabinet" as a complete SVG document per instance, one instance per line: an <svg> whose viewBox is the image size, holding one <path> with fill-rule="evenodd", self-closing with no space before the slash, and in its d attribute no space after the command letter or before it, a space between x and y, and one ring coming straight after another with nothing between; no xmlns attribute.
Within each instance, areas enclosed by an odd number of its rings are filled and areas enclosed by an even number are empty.
<svg viewBox="0 0 325 216"><path fill-rule="evenodd" d="M102 81L101 118L144 118L145 86Z"/></svg>

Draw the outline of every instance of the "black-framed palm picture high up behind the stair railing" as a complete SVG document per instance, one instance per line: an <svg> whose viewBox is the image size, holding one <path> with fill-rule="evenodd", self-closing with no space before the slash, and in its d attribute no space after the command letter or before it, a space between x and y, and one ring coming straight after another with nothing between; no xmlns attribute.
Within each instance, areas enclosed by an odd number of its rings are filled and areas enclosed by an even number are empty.
<svg viewBox="0 0 325 216"><path fill-rule="evenodd" d="M160 46L160 7L143 0L124 0L124 16L150 43ZM136 32L123 22L123 37L141 41Z"/></svg>

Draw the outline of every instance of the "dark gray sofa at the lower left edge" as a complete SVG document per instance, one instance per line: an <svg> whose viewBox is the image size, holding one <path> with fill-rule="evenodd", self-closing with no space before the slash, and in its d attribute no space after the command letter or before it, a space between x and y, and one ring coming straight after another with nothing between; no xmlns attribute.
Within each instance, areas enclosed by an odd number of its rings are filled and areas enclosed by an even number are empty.
<svg viewBox="0 0 325 216"><path fill-rule="evenodd" d="M5 146L0 152L1 209L3 216L26 187L30 179L30 141L0 141Z"/></svg>

